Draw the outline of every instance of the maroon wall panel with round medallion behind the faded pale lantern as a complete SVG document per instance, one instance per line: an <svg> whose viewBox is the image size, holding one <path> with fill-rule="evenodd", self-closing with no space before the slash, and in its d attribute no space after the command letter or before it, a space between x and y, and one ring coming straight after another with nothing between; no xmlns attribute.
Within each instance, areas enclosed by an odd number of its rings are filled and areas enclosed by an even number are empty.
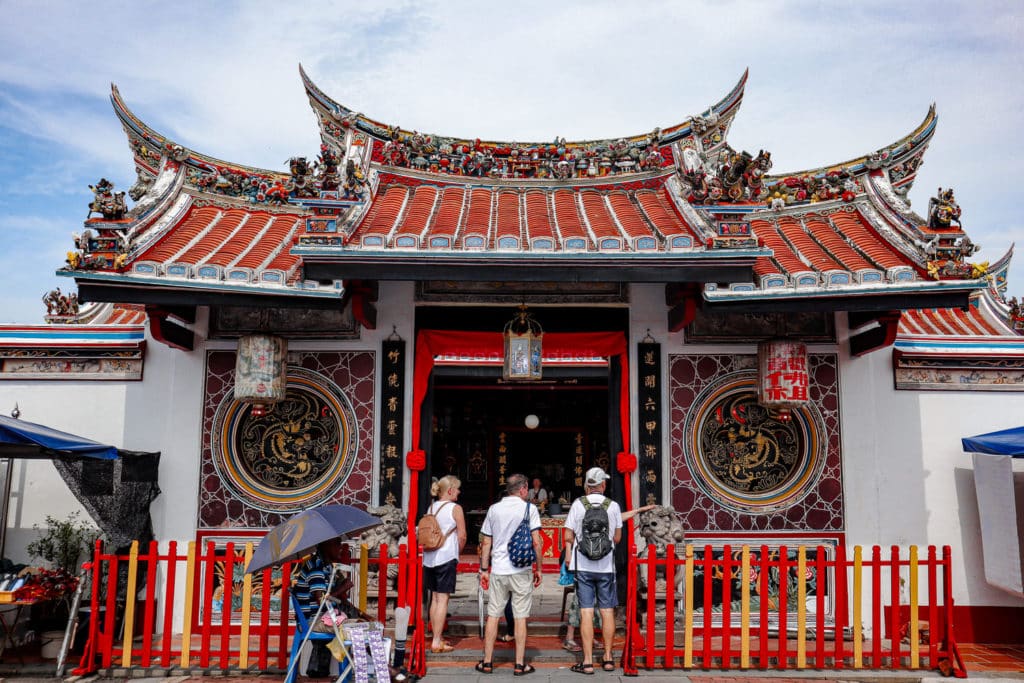
<svg viewBox="0 0 1024 683"><path fill-rule="evenodd" d="M375 354L289 354L288 391L256 417L232 395L234 353L207 355L199 524L268 528L324 503L369 507Z"/></svg>

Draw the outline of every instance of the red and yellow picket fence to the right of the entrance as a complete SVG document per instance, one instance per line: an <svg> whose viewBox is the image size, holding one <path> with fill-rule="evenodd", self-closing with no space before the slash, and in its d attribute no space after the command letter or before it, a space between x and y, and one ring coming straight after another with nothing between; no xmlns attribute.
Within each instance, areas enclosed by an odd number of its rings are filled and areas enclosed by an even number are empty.
<svg viewBox="0 0 1024 683"><path fill-rule="evenodd" d="M629 560L624 669L939 669L953 639L950 551L669 546ZM641 579L646 578L641 592ZM866 578L866 586L865 586ZM922 595L924 594L924 595ZM697 599L697 596L699 599ZM922 601L924 598L924 602ZM870 627L865 638L863 627ZM680 628L681 626L681 628Z"/></svg>

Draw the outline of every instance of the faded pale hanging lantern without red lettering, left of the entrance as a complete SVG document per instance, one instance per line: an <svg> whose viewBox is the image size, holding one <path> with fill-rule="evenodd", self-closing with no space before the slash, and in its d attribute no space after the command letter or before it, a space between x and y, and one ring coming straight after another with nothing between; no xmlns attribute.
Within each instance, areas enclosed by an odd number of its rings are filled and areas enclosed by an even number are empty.
<svg viewBox="0 0 1024 683"><path fill-rule="evenodd" d="M288 341L272 335L239 339L234 365L234 399L252 403L260 417L285 397L288 387Z"/></svg>

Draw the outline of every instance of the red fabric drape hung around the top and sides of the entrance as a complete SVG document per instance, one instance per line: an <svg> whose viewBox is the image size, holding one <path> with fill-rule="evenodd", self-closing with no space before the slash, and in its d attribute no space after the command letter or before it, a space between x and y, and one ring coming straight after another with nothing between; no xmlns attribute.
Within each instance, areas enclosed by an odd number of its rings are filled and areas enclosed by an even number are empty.
<svg viewBox="0 0 1024 683"><path fill-rule="evenodd" d="M420 414L423 399L427 395L430 372L434 368L434 357L439 354L501 356L504 353L504 339L500 332L459 332L447 330L421 330L416 337L416 367L413 372L413 449L410 457L422 454L420 443ZM623 430L623 450L630 450L630 373L629 349L626 335L622 332L546 332L544 334L544 354L551 356L617 356L622 368L620 382L618 417ZM408 460L407 460L408 463ZM417 463L419 464L419 463ZM422 469L422 467L421 467ZM419 498L419 472L410 468L409 488L409 538L416 539L416 511ZM627 481L629 477L627 476ZM632 498L627 493L627 504Z"/></svg>

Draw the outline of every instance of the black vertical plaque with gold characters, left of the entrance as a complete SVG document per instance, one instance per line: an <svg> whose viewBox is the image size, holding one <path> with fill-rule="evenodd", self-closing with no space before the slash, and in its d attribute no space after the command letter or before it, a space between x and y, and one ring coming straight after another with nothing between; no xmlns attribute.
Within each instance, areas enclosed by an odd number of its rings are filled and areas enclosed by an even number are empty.
<svg viewBox="0 0 1024 683"><path fill-rule="evenodd" d="M406 342L386 339L381 342L381 410L378 427L381 443L381 469L377 490L380 505L401 506L406 397Z"/></svg>

